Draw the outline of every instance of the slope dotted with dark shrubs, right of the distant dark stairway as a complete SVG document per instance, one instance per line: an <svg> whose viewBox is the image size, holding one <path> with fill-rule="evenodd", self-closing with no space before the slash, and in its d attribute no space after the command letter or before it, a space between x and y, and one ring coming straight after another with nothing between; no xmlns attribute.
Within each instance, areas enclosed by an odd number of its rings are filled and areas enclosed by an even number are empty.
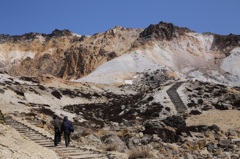
<svg viewBox="0 0 240 159"><path fill-rule="evenodd" d="M239 91L221 84L191 81L186 87L188 109L206 111L209 109L232 110L239 109L237 104L240 98Z"/></svg>

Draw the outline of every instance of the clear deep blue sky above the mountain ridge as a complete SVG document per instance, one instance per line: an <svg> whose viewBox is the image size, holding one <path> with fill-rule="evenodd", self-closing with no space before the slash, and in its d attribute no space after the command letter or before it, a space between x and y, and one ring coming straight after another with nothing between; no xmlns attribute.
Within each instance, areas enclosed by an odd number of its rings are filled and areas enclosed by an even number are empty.
<svg viewBox="0 0 240 159"><path fill-rule="evenodd" d="M240 0L1 0L0 6L0 34L69 29L92 35L160 21L199 33L240 34Z"/></svg>

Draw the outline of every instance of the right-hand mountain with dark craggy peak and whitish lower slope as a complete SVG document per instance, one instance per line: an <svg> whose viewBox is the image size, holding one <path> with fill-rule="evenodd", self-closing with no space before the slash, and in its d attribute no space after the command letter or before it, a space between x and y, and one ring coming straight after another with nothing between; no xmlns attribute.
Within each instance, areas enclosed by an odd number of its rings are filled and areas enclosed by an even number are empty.
<svg viewBox="0 0 240 159"><path fill-rule="evenodd" d="M169 23L150 25L133 47L77 81L124 83L136 73L167 69L180 78L240 84L240 36L199 34Z"/></svg>

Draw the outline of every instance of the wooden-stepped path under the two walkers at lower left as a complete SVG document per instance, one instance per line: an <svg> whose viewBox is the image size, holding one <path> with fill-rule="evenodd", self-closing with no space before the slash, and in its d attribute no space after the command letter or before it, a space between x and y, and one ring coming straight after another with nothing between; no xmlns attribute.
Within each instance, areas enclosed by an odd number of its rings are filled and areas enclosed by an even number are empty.
<svg viewBox="0 0 240 159"><path fill-rule="evenodd" d="M6 118L6 123L35 143L55 151L60 159L108 159L106 153L93 149L76 147L74 145L66 148L64 144L55 147L52 138L41 134L37 130L32 129L23 123L15 121L12 118Z"/></svg>

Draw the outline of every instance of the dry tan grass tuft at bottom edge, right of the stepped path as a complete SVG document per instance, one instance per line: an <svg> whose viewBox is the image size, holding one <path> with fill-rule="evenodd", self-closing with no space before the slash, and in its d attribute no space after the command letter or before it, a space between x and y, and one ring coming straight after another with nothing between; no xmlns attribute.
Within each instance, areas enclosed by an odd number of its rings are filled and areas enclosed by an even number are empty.
<svg viewBox="0 0 240 159"><path fill-rule="evenodd" d="M137 158L154 158L151 148L148 146L141 146L133 148L128 153L128 159L137 159Z"/></svg>

